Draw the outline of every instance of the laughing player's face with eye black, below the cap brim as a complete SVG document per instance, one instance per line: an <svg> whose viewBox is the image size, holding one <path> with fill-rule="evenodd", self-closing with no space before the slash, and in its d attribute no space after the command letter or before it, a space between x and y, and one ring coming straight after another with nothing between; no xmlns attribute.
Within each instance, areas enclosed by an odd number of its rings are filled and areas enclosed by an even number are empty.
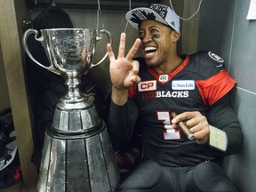
<svg viewBox="0 0 256 192"><path fill-rule="evenodd" d="M141 22L139 37L142 53L148 66L157 68L168 63L170 55L173 54L172 33L176 32L156 20L144 20Z"/></svg>

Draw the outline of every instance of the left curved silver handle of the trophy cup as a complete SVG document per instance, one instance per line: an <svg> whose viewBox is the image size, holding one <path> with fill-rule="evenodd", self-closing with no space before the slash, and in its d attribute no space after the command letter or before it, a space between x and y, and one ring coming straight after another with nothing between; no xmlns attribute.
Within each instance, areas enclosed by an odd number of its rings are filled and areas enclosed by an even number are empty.
<svg viewBox="0 0 256 192"><path fill-rule="evenodd" d="M41 36L41 37L39 37L39 38L36 37L36 36L38 35L38 31L37 31L36 29L34 29L34 28L28 28L28 29L25 31L25 33L24 33L24 35L23 35L23 38L22 38L22 44L23 44L23 47L24 47L25 52L28 54L28 57L29 57L31 60L33 60L33 61L34 61L37 65L39 65L40 67L45 68L45 69L51 71L52 73L55 73L55 74L57 74L57 75L60 75L60 72L57 71L57 70L54 68L54 66L52 65L52 63L51 63L51 65L50 65L49 67L46 67L46 66L44 66L43 64L41 64L40 62L38 62L38 61L32 56L32 54L29 52L29 50L28 50L28 36L29 36L30 34L35 34L35 39L36 39L36 41L40 42L41 44L43 44L43 41L44 41L44 36Z"/></svg>

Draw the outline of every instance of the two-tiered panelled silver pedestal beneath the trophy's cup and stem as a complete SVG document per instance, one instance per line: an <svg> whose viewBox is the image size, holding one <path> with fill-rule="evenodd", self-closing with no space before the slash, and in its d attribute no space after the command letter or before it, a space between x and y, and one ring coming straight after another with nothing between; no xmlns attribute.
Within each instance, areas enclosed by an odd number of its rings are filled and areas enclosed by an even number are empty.
<svg viewBox="0 0 256 192"><path fill-rule="evenodd" d="M116 191L119 174L106 124L94 106L55 109L44 138L37 190Z"/></svg>

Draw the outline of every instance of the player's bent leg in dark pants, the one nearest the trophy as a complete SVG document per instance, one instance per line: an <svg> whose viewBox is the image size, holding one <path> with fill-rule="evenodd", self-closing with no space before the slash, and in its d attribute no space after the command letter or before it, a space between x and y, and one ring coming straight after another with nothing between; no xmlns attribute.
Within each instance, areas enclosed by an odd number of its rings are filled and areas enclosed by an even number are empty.
<svg viewBox="0 0 256 192"><path fill-rule="evenodd" d="M122 192L170 192L170 182L164 177L162 167L153 161L142 162L124 180L119 191Z"/></svg>

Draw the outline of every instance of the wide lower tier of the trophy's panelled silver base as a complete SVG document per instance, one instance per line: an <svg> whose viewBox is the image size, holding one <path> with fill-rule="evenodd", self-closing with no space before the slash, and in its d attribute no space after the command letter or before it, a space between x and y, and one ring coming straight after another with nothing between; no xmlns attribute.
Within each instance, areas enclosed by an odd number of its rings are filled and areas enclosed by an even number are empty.
<svg viewBox="0 0 256 192"><path fill-rule="evenodd" d="M106 124L98 125L92 134L45 132L39 192L116 191L119 173L111 142Z"/></svg>

